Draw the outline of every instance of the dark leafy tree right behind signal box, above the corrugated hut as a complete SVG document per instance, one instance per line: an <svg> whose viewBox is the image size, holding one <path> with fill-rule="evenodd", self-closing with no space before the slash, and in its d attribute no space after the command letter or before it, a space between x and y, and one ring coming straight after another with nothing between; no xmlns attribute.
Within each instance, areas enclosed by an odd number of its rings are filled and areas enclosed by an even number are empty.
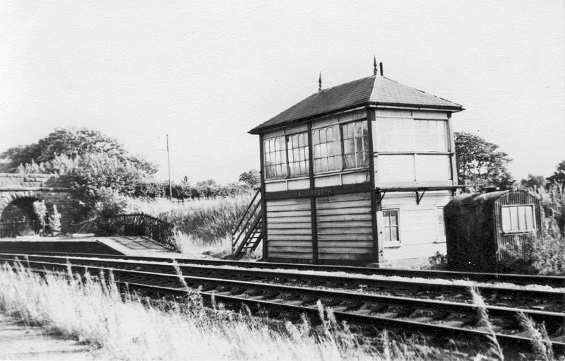
<svg viewBox="0 0 565 361"><path fill-rule="evenodd" d="M501 189L513 187L515 181L507 169L511 159L508 154L497 150L499 146L475 134L456 132L455 148L460 184L475 188L490 185Z"/></svg>

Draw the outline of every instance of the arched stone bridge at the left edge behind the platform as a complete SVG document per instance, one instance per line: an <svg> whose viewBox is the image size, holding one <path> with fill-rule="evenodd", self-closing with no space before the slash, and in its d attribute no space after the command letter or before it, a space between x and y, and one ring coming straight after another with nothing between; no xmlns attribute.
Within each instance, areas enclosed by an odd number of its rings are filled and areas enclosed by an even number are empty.
<svg viewBox="0 0 565 361"><path fill-rule="evenodd" d="M34 201L45 201L49 213L54 204L61 213L61 230L73 219L71 179L54 174L0 173L0 223L37 220Z"/></svg>

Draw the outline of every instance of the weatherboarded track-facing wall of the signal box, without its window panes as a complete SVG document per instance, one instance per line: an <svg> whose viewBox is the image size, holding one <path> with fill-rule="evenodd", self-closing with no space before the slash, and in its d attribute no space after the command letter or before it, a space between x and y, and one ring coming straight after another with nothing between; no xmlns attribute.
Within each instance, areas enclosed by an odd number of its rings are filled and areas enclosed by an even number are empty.
<svg viewBox="0 0 565 361"><path fill-rule="evenodd" d="M309 174L306 177L261 177L266 222L263 258L312 264L368 264L376 261L374 177L372 164L353 170L314 172L312 129L365 121L366 108L311 119L301 126L275 129L261 136L292 136L307 132ZM369 128L370 129L370 128ZM370 137L370 131L368 136ZM369 144L371 141L369 140ZM342 148L343 152L343 148ZM369 159L373 153L367 150ZM265 172L261 148L261 169Z"/></svg>

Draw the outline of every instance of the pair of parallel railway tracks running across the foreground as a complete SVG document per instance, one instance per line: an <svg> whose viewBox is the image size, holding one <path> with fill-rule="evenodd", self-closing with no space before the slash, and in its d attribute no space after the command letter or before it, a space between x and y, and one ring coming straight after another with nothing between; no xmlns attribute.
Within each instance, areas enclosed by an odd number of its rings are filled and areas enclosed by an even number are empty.
<svg viewBox="0 0 565 361"><path fill-rule="evenodd" d="M27 259L24 259L25 256ZM170 261L150 262L131 259L125 261L76 256L0 254L1 261L13 261L16 257L35 271L46 269L66 271L68 262L70 262L73 271L76 272L84 272L86 269L91 273L112 271L117 282L127 285L130 289L135 288L160 296L182 296L186 292ZM490 331L484 329L477 319L477 307L474 304L434 300L431 297L417 297L418 295L411 294L414 290L423 292L422 290L426 288L434 289L432 292L447 292L450 289L463 292L461 286L426 283L407 288L405 284L396 280L393 283L374 280L375 287L386 284L383 287L403 289L412 296L408 297L408 295L384 295L347 289L355 282L367 281L367 278L304 275L304 273L257 271L249 268L204 267L203 265L184 264L184 261L179 265L179 269L184 282L191 288L201 288L201 295L208 302L214 297L216 302L222 302L235 308L245 304L251 311L266 313L271 317L290 318L292 315L307 314L311 319L316 320L319 319L317 302L321 301L324 306L333 309L333 314L338 321L347 321L364 330L386 328L398 333L422 334L436 341L447 341L453 338L467 343L473 340L484 343L491 336ZM301 285L288 284L297 282ZM313 283L324 283L326 286L331 283L340 283L345 289L323 289L314 287ZM565 313L562 310L562 293L549 292L547 295L548 292L545 291L499 290L496 287L487 286L483 286L480 290L483 295L490 291L507 292L506 295L516 292L513 295L526 298L546 297L552 302L559 302L559 296L561 296L560 312L493 304L487 305L487 311L494 325L497 340L506 348L528 350L531 346L528 334L521 331L516 320L516 314L523 312L536 322L543 322L552 337L550 341L552 347L557 353L565 352L563 330Z"/></svg>

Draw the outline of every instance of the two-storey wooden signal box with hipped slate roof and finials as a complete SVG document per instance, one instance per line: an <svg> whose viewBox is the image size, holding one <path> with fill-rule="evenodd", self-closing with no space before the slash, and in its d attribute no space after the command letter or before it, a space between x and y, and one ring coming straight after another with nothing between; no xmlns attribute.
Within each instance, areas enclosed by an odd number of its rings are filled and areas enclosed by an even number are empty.
<svg viewBox="0 0 565 361"><path fill-rule="evenodd" d="M401 264L445 254L461 105L374 74L251 129L261 157L263 260Z"/></svg>

